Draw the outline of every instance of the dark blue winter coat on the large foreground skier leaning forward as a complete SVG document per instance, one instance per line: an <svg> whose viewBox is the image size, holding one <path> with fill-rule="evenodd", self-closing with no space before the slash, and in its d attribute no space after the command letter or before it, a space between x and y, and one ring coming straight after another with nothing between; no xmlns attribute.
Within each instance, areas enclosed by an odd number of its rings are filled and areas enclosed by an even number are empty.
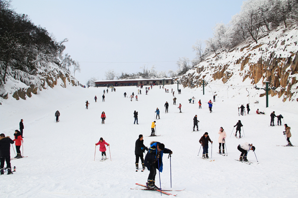
<svg viewBox="0 0 298 198"><path fill-rule="evenodd" d="M152 142L150 144L149 151L147 152L144 160L144 165L150 170L150 166L155 163L159 162L159 164L156 166L157 169L159 167L159 171L162 172L162 155L163 153L170 153L171 150L168 148L164 148L163 150L160 151L160 157L157 159L156 154L157 154L157 145L159 145L159 142Z"/></svg>

